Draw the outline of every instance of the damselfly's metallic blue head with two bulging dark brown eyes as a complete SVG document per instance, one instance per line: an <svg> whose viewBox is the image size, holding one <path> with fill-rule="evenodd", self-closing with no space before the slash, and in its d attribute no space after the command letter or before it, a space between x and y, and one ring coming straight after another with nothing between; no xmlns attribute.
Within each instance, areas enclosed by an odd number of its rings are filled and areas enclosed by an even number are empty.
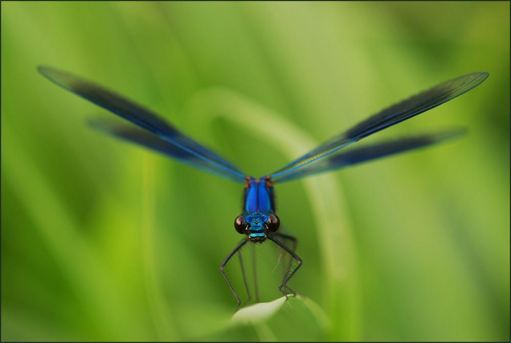
<svg viewBox="0 0 511 343"><path fill-rule="evenodd" d="M263 243L268 234L275 233L281 221L276 214L245 214L236 217L234 227L240 234L247 235L252 243Z"/></svg>

